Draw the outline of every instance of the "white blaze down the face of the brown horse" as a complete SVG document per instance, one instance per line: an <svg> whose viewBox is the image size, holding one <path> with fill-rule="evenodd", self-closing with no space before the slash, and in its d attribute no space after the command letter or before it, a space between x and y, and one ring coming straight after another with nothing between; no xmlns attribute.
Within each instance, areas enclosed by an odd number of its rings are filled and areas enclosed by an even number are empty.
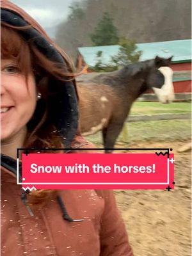
<svg viewBox="0 0 192 256"><path fill-rule="evenodd" d="M164 76L164 84L159 88L152 88L161 103L170 103L175 99L173 88L173 70L170 67L160 67L159 71Z"/></svg>

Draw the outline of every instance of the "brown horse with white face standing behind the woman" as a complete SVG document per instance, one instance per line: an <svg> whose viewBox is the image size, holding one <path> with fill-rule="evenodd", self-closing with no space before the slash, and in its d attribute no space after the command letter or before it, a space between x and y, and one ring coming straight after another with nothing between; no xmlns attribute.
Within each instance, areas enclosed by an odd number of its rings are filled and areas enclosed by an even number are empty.
<svg viewBox="0 0 192 256"><path fill-rule="evenodd" d="M104 148L111 152L122 131L132 103L152 88L162 103L174 99L169 67L172 58L127 65L115 72L86 74L78 77L79 116L84 136L102 131Z"/></svg>

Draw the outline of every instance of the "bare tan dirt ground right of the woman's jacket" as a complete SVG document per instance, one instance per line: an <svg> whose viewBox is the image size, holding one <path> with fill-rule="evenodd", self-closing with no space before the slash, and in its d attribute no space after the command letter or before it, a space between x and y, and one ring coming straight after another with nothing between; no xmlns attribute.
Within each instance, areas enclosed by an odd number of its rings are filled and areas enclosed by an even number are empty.
<svg viewBox="0 0 192 256"><path fill-rule="evenodd" d="M173 148L175 189L115 191L135 256L191 255L191 151L177 152L187 142L137 144Z"/></svg>

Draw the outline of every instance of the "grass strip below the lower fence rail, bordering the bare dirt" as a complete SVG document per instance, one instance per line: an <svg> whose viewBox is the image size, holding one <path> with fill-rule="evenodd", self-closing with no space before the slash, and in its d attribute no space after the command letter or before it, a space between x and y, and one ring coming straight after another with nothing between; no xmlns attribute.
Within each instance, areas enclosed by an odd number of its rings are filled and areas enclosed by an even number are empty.
<svg viewBox="0 0 192 256"><path fill-rule="evenodd" d="M102 134L86 136L102 147ZM191 140L191 120L159 120L150 122L125 123L118 137L119 142L134 143L136 141L186 141Z"/></svg>

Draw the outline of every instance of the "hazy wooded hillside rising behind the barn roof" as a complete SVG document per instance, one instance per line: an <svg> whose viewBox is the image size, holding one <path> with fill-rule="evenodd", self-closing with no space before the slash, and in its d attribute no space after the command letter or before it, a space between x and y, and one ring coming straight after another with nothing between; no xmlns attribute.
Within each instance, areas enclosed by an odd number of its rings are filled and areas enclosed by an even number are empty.
<svg viewBox="0 0 192 256"><path fill-rule="evenodd" d="M103 36L104 35L104 36ZM191 38L191 0L81 0L59 24L56 42L73 55L77 47Z"/></svg>

